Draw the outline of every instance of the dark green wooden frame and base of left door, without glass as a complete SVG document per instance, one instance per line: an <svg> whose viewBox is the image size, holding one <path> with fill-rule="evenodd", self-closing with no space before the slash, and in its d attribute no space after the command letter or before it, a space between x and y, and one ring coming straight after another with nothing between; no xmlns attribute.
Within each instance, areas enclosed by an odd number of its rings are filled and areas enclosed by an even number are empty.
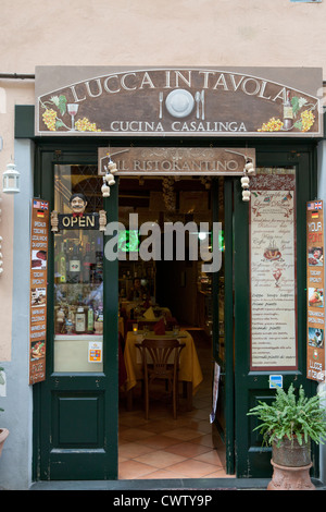
<svg viewBox="0 0 326 512"><path fill-rule="evenodd" d="M57 145L58 147L58 145ZM60 145L62 148L62 145ZM36 153L35 197L50 200L53 209L54 164L97 166L97 148L66 146L53 150L51 145L38 147ZM104 199L108 219L117 215L117 192ZM104 236L105 245L105 236ZM53 235L49 241L49 276L53 276ZM48 332L46 380L34 386L34 464L35 479L116 479L117 478L117 261L103 258L103 373L55 374L53 368L53 280L48 285ZM110 350L108 350L110 348ZM92 422L98 440L95 448L58 448L57 420L60 400L74 403L83 422L83 400L93 411ZM79 402L78 402L79 401ZM79 407L80 405L80 407ZM79 409L78 409L79 407ZM75 420L76 425L76 420ZM60 443L59 443L60 444Z"/></svg>

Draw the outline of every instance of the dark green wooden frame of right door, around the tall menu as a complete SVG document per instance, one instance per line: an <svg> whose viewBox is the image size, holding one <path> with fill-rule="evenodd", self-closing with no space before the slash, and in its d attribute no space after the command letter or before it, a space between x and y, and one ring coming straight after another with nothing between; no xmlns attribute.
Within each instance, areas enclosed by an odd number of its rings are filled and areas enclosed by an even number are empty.
<svg viewBox="0 0 326 512"><path fill-rule="evenodd" d="M313 150L279 149L272 153L258 150L258 168L294 169L294 217L296 217L296 277L294 297L297 319L297 368L253 369L251 364L251 275L250 275L250 208L251 203L241 198L240 181L235 181L235 425L236 425L236 473L238 477L269 477L272 475L271 449L262 448L262 439L253 428L256 418L247 416L249 409L259 400L271 401L275 391L269 389L269 375L283 375L284 388L291 382L301 383L308 393L315 382L305 379L305 202L315 197L313 174ZM280 171L283 172L283 171ZM286 192L287 194L287 192ZM277 227L275 228L278 229ZM263 277L262 277L263 278ZM286 338L286 336L285 336ZM264 334L261 337L264 342ZM284 340L286 341L286 339Z"/></svg>

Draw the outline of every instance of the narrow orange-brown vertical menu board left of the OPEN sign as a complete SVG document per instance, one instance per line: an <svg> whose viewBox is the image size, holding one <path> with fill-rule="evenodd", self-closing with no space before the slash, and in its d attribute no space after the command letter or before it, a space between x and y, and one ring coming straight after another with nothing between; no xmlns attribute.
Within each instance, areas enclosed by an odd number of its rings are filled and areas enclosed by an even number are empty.
<svg viewBox="0 0 326 512"><path fill-rule="evenodd" d="M29 383L46 378L49 203L33 199L30 230Z"/></svg>

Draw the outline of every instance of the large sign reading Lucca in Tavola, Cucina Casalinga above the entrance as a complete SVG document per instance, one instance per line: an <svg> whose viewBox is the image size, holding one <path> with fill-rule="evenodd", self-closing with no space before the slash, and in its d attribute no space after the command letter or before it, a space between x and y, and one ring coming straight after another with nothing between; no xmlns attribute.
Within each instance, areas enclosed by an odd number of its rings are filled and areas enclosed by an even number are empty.
<svg viewBox="0 0 326 512"><path fill-rule="evenodd" d="M322 69L37 66L36 135L323 135Z"/></svg>

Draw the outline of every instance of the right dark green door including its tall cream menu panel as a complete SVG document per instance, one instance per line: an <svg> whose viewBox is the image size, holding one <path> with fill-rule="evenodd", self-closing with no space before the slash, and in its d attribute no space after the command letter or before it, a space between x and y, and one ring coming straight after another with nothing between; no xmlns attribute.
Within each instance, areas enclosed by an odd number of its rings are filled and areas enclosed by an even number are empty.
<svg viewBox="0 0 326 512"><path fill-rule="evenodd" d="M268 478L269 447L248 411L271 403L272 376L311 394L305 379L305 204L315 197L312 155L265 153L258 158L251 200L235 184L235 410L237 477ZM258 235L259 233L259 235ZM272 247L272 253L269 252ZM280 256L281 255L281 256ZM278 271L277 271L278 269ZM286 315L284 314L286 312ZM316 466L316 464L315 464Z"/></svg>

